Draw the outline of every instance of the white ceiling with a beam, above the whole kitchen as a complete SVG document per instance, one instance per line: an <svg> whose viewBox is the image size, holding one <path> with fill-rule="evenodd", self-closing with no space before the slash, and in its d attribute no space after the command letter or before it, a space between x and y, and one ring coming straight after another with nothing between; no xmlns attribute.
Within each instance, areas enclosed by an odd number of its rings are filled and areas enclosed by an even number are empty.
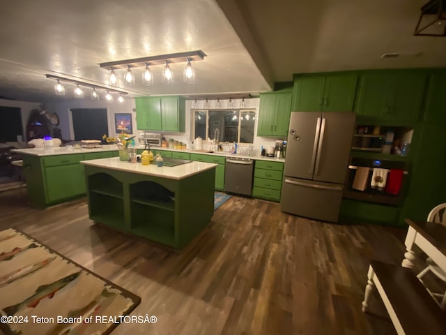
<svg viewBox="0 0 446 335"><path fill-rule="evenodd" d="M445 67L446 38L415 37L427 0L22 0L0 11L0 97L72 100L54 95L61 75L107 84L108 61L202 50L197 83L182 81L185 63L171 64L172 86L121 88L130 96L269 91L293 73L362 68ZM221 8L220 8L221 6ZM380 59L385 52L419 57ZM119 76L125 70L119 70Z"/></svg>

